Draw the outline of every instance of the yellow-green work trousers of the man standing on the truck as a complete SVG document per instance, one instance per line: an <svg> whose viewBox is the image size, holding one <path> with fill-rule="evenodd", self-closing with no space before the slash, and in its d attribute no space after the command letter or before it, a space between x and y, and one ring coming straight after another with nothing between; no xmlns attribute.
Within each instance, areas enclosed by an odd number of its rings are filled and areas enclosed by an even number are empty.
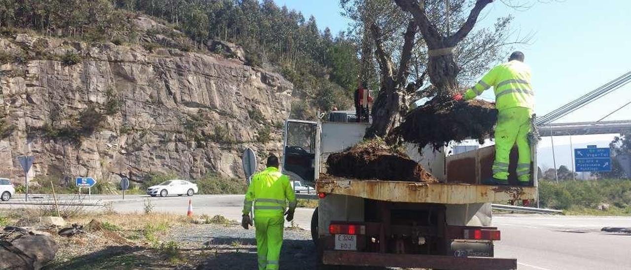
<svg viewBox="0 0 631 270"><path fill-rule="evenodd" d="M530 144L528 133L531 129L532 111L524 107L512 107L500 110L495 127L495 162L493 162L493 178L509 179L510 150L517 144L519 160L517 161L517 179L522 182L530 180Z"/></svg>

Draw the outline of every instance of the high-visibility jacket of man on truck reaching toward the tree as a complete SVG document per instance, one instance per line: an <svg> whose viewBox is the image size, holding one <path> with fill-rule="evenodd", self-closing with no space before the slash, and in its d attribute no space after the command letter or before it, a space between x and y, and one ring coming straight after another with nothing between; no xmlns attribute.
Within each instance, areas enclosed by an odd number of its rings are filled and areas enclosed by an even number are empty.
<svg viewBox="0 0 631 270"><path fill-rule="evenodd" d="M534 91L530 85L530 68L513 60L491 69L473 88L466 91L464 100L471 100L491 88L495 91L495 109L524 107L534 110Z"/></svg>

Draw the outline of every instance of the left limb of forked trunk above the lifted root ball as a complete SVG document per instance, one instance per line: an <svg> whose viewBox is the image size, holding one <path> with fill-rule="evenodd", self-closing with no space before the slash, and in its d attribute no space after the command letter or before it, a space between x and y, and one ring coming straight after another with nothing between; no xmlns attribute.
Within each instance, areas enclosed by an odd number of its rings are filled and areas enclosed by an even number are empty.
<svg viewBox="0 0 631 270"><path fill-rule="evenodd" d="M440 49L443 47L441 43L444 37L427 18L427 13L425 13L425 0L420 1L422 2L418 3L416 0L394 0L394 3L404 11L408 11L412 14L414 20L418 23L418 29L425 38L425 42L427 42L428 49Z"/></svg>

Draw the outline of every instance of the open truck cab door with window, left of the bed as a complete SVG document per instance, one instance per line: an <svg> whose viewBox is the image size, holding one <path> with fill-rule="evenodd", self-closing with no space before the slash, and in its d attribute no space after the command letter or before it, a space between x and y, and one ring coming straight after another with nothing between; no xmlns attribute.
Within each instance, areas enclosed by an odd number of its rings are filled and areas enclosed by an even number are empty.
<svg viewBox="0 0 631 270"><path fill-rule="evenodd" d="M283 173L292 180L314 182L317 122L287 120Z"/></svg>

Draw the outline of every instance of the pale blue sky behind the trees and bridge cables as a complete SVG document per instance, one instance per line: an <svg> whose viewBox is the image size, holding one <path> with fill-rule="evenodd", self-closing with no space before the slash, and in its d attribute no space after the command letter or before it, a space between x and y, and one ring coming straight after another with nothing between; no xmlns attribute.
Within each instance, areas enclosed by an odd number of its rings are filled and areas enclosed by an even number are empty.
<svg viewBox="0 0 631 270"><path fill-rule="evenodd" d="M529 1L533 5L526 10L495 1L483 11L480 25L490 25L498 16L510 14L515 17L512 26L517 32L533 35L530 44L516 49L526 54L526 63L533 71L538 115L631 71L631 1ZM276 0L276 3L301 11L305 18L314 15L321 29L328 26L333 33L346 30L349 22L339 14L338 0ZM492 98L493 93L488 90L483 97ZM595 121L630 101L631 83L557 122ZM631 120L631 105L606 120ZM572 141L604 144L612 137L574 136ZM555 145L569 144L567 137L554 140ZM550 146L550 139L545 139L541 146Z"/></svg>

